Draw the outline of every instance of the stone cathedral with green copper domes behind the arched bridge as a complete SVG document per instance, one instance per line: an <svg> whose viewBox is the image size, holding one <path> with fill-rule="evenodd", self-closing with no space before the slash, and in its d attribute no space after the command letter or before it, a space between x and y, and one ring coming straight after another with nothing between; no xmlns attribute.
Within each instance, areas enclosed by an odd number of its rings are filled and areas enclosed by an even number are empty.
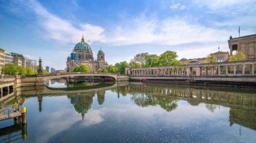
<svg viewBox="0 0 256 143"><path fill-rule="evenodd" d="M73 52L67 57L66 63L67 72L70 72L75 66L86 64L90 68L90 72L95 73L99 68L108 65L101 49L98 51L97 60L94 60L92 49L89 44L84 42L84 36L82 36L81 42L75 45Z"/></svg>

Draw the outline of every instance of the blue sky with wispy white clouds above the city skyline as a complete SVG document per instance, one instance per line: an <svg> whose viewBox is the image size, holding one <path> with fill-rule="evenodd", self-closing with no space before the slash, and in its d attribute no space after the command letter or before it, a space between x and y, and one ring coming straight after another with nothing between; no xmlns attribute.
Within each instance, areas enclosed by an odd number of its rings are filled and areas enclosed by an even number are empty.
<svg viewBox="0 0 256 143"><path fill-rule="evenodd" d="M228 38L256 33L255 0L0 0L0 47L64 69L84 34L115 64L140 52L181 58L228 51Z"/></svg>

